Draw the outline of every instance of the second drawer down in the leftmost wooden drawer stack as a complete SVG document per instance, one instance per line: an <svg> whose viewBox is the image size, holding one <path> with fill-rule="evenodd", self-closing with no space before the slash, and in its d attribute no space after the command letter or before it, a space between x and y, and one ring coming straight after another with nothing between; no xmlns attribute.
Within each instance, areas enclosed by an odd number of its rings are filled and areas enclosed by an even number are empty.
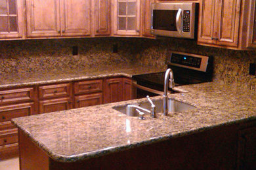
<svg viewBox="0 0 256 170"><path fill-rule="evenodd" d="M0 107L0 128L2 122L9 122L12 118L31 115L33 112L33 103L23 103L18 105L9 105Z"/></svg>

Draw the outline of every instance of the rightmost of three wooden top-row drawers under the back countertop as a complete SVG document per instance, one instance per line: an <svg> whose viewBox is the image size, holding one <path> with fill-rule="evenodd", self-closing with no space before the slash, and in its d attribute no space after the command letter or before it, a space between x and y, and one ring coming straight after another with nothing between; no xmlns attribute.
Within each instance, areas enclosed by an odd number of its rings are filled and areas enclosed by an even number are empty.
<svg viewBox="0 0 256 170"><path fill-rule="evenodd" d="M75 94L102 92L102 80L88 80L75 82Z"/></svg>

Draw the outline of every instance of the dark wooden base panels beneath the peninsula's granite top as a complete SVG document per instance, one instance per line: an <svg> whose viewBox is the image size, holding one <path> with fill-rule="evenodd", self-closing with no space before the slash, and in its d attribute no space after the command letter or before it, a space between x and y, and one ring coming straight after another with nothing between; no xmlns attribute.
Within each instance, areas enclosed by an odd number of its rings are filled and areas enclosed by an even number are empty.
<svg viewBox="0 0 256 170"><path fill-rule="evenodd" d="M18 129L20 169L236 169L237 124L75 162L53 160Z"/></svg>

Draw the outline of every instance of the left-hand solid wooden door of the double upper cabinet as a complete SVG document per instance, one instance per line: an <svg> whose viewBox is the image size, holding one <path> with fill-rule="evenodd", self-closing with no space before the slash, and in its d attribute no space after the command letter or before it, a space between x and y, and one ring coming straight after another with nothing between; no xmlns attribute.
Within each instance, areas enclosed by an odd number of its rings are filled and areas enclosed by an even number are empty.
<svg viewBox="0 0 256 170"><path fill-rule="evenodd" d="M60 1L26 0L28 37L60 35Z"/></svg>

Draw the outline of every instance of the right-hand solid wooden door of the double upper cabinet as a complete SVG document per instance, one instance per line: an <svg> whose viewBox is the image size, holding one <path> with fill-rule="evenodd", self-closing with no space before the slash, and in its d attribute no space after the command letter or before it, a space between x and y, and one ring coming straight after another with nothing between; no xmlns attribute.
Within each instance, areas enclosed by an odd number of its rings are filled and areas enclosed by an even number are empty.
<svg viewBox="0 0 256 170"><path fill-rule="evenodd" d="M91 33L91 0L62 0L62 36L82 36Z"/></svg>

